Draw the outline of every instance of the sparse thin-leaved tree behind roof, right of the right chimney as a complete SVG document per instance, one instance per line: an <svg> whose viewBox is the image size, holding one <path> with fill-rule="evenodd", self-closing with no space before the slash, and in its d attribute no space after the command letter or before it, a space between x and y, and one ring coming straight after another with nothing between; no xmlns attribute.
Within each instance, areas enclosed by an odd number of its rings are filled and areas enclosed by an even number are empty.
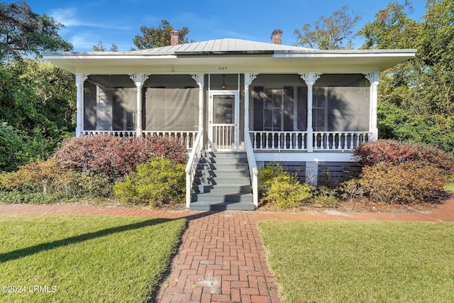
<svg viewBox="0 0 454 303"><path fill-rule="evenodd" d="M361 17L358 15L350 16L347 13L348 6L335 11L326 18L321 16L312 29L311 23L306 23L301 31L296 29L294 34L297 36L295 45L307 48L318 48L321 50L342 50L353 48L353 39L356 34L353 32L356 23Z"/></svg>

